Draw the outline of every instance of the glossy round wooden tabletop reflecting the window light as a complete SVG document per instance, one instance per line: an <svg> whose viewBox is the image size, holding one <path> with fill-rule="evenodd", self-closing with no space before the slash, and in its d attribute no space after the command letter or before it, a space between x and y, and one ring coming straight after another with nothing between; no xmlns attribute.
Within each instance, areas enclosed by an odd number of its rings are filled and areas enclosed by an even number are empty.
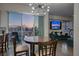
<svg viewBox="0 0 79 59"><path fill-rule="evenodd" d="M41 37L41 36L25 36L24 41L29 44L38 44L40 42L47 42L51 39L48 37Z"/></svg>

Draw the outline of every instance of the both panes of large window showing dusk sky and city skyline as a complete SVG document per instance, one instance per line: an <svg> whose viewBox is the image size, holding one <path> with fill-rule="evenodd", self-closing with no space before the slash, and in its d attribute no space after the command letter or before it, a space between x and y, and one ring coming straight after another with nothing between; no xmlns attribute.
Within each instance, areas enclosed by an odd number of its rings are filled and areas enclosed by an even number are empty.
<svg viewBox="0 0 79 59"><path fill-rule="evenodd" d="M33 34L34 17L29 14L22 14L16 12L9 12L9 33L18 34L17 41L21 41L25 35Z"/></svg>

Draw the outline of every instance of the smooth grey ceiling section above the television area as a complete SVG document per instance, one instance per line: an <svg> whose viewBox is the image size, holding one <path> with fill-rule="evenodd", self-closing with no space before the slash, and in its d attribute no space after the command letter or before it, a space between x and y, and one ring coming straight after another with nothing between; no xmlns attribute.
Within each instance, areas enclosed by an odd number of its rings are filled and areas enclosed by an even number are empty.
<svg viewBox="0 0 79 59"><path fill-rule="evenodd" d="M73 16L74 4L71 3L52 3L50 5L50 15Z"/></svg>

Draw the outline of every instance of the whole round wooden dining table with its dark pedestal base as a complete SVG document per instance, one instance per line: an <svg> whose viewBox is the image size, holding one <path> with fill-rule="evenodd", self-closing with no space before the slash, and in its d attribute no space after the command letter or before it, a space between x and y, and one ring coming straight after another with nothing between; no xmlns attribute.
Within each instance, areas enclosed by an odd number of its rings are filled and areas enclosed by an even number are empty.
<svg viewBox="0 0 79 59"><path fill-rule="evenodd" d="M51 39L49 37L44 37L44 36L25 36L24 37L24 42L29 44L29 56L35 56L34 51L35 51L35 45L44 42L48 42Z"/></svg>

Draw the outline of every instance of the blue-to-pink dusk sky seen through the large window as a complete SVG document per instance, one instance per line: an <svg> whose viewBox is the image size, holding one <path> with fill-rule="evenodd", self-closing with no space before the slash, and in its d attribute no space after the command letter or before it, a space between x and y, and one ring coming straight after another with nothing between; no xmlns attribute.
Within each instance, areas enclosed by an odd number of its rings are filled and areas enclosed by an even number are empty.
<svg viewBox="0 0 79 59"><path fill-rule="evenodd" d="M26 27L33 27L34 17L30 14L21 14L16 12L9 13L9 25L21 26L25 25Z"/></svg>

